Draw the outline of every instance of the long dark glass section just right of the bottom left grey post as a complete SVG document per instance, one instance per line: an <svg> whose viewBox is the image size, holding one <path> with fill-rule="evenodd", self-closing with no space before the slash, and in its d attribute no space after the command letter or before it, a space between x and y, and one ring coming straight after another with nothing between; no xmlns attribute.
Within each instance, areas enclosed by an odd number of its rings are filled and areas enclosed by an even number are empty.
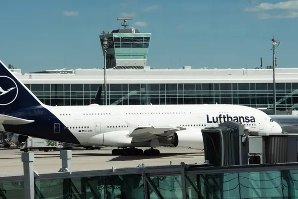
<svg viewBox="0 0 298 199"><path fill-rule="evenodd" d="M142 175L115 175L35 181L36 199L144 198Z"/></svg>

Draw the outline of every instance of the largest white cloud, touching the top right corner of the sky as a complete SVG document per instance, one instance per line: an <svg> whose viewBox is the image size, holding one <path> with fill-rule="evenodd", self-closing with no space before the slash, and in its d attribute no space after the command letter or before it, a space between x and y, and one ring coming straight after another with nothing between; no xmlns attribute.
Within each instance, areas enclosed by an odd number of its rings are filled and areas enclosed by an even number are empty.
<svg viewBox="0 0 298 199"><path fill-rule="evenodd" d="M245 8L245 11L264 11L271 9L298 9L298 0L288 0L278 3L260 3L254 7Z"/></svg>

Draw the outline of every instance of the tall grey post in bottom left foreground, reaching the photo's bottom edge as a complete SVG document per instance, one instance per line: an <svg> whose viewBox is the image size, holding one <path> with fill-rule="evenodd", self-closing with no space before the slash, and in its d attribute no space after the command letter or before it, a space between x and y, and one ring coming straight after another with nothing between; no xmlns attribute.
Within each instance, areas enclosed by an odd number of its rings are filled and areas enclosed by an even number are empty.
<svg viewBox="0 0 298 199"><path fill-rule="evenodd" d="M34 199L34 153L22 153L22 162L24 169L24 196L25 199Z"/></svg>

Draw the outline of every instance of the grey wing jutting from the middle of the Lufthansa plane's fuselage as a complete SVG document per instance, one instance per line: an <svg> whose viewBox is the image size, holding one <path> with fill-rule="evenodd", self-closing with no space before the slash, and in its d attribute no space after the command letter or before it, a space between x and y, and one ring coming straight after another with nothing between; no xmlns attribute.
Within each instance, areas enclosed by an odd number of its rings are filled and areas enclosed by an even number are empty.
<svg viewBox="0 0 298 199"><path fill-rule="evenodd" d="M127 137L132 137L132 142L145 142L152 140L154 138L160 138L160 137L168 137L169 135L173 134L176 131L184 130L186 128L181 126L152 126L152 125L146 125L146 126L136 126L130 122L126 122L129 127L134 127L135 129L126 135Z"/></svg>

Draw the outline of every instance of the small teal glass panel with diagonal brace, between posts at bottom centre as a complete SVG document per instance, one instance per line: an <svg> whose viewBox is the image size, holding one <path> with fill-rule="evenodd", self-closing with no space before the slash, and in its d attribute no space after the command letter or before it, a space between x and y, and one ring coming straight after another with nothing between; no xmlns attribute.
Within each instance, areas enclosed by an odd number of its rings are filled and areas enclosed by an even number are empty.
<svg viewBox="0 0 298 199"><path fill-rule="evenodd" d="M152 185L164 199L182 199L181 176L150 177ZM148 184L149 199L158 199L152 187Z"/></svg>

